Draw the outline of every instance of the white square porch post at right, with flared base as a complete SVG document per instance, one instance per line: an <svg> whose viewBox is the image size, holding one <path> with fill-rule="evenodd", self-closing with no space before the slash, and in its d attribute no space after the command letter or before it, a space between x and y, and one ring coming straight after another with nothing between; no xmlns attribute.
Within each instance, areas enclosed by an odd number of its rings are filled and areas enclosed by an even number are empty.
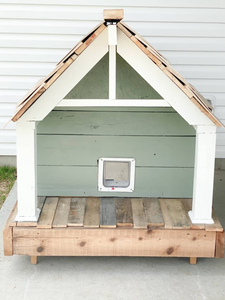
<svg viewBox="0 0 225 300"><path fill-rule="evenodd" d="M196 125L192 223L213 224L212 193L216 146L216 125Z"/></svg>

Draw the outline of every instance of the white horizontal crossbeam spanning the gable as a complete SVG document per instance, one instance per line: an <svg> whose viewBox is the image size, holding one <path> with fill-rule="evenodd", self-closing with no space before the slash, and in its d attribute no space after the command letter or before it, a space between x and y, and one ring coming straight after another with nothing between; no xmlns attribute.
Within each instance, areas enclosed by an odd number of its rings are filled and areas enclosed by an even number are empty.
<svg viewBox="0 0 225 300"><path fill-rule="evenodd" d="M164 99L63 99L56 107L170 107Z"/></svg>

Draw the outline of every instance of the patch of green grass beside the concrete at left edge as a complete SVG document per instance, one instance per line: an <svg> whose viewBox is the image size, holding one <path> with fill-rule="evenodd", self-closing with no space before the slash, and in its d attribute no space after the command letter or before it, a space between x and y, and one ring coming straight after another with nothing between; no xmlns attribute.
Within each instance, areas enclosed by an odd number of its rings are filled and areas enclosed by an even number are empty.
<svg viewBox="0 0 225 300"><path fill-rule="evenodd" d="M16 168L10 166L0 167L0 208L16 181Z"/></svg>

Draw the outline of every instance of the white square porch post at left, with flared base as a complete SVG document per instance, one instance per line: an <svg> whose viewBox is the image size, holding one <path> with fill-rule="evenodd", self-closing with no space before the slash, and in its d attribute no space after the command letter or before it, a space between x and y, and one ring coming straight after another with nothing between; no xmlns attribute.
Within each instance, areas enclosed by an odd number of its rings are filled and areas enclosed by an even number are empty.
<svg viewBox="0 0 225 300"><path fill-rule="evenodd" d="M17 201L16 221L37 221L37 146L36 121L16 122Z"/></svg>

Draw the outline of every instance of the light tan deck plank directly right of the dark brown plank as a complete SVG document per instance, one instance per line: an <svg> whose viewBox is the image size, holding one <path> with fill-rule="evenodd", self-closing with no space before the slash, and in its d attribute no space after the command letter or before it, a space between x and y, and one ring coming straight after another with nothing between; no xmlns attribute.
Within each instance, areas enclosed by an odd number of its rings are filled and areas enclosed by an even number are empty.
<svg viewBox="0 0 225 300"><path fill-rule="evenodd" d="M134 219L134 228L147 228L147 220L142 198L132 198L131 207Z"/></svg>

